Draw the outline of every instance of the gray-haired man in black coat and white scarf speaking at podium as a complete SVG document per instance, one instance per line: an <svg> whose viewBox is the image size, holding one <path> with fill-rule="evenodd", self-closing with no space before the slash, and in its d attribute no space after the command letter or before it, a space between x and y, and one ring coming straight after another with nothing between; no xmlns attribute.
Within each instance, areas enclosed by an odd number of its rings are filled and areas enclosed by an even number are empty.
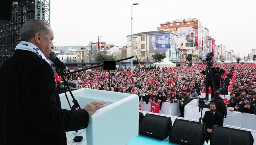
<svg viewBox="0 0 256 145"><path fill-rule="evenodd" d="M61 109L54 72L47 58L54 48L53 30L39 19L20 31L15 53L0 67L0 145L66 144L67 131L88 126L104 101L80 110Z"/></svg>

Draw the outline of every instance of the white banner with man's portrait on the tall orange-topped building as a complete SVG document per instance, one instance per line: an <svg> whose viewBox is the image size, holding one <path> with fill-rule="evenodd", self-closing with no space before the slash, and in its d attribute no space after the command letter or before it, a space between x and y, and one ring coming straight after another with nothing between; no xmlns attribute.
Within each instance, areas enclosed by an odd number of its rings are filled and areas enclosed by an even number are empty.
<svg viewBox="0 0 256 145"><path fill-rule="evenodd" d="M180 42L193 42L194 40L193 28L178 30L178 35Z"/></svg>

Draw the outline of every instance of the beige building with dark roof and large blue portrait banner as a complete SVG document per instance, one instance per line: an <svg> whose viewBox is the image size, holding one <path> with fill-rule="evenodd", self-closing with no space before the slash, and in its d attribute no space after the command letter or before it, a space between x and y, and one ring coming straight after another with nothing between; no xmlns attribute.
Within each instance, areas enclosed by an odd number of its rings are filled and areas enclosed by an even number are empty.
<svg viewBox="0 0 256 145"><path fill-rule="evenodd" d="M166 58L172 62L181 62L177 45L178 35L162 30L141 32L132 35L132 45L130 37L127 36L127 55L137 55L139 60L143 60L141 65L144 65L144 62L153 62L152 55L156 52L165 53Z"/></svg>

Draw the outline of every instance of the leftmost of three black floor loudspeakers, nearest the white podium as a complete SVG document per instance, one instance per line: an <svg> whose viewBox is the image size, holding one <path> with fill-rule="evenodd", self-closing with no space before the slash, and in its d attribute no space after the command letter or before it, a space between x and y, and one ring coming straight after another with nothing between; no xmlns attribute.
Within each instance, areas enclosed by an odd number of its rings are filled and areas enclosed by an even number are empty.
<svg viewBox="0 0 256 145"><path fill-rule="evenodd" d="M171 117L146 114L139 125L139 134L164 140L172 128Z"/></svg>

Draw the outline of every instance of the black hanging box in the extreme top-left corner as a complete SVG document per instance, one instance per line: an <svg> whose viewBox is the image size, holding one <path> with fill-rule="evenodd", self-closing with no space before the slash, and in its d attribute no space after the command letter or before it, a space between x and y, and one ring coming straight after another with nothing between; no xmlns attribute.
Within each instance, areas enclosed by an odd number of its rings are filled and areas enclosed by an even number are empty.
<svg viewBox="0 0 256 145"><path fill-rule="evenodd" d="M10 21L12 16L12 0L0 0L0 20Z"/></svg>

